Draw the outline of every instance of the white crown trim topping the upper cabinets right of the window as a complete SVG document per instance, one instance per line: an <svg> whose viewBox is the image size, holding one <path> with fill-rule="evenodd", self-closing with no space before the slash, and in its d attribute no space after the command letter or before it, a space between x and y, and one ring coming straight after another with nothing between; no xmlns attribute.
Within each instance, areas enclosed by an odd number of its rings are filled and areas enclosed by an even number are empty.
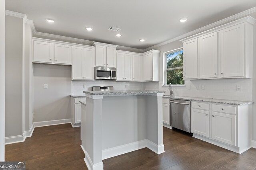
<svg viewBox="0 0 256 170"><path fill-rule="evenodd" d="M212 33L212 32L216 32L216 31L220 31L221 29L224 29L226 27L230 27L232 25L238 25L240 23L244 23L244 22L247 22L247 23L250 23L251 25L254 25L254 23L256 23L256 19L255 18L252 18L251 16L247 16L247 17L244 17L244 18L241 18L239 20L236 20L236 21L232 21L232 22L229 22L229 23L226 23L224 25L220 25L218 27L215 27L215 28L212 28L212 29L209 29L207 31L203 31L201 33L198 33L196 35L192 35L190 37L186 37L184 39L181 39L180 41L182 42L185 42L185 41L188 41L190 39L194 39L194 38L198 38L204 34L208 34L208 33Z"/></svg>

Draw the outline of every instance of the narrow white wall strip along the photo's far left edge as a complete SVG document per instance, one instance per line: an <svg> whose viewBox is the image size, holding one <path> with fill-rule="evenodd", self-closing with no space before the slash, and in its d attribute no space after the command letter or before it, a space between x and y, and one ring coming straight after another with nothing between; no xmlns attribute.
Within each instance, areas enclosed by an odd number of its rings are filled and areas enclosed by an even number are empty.
<svg viewBox="0 0 256 170"><path fill-rule="evenodd" d="M5 1L0 1L0 161L4 161L5 133Z"/></svg>

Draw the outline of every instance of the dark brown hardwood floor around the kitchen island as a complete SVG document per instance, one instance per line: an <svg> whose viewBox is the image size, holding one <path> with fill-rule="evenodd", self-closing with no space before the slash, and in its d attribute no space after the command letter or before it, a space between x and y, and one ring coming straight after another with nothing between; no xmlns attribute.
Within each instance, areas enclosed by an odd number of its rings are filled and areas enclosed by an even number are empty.
<svg viewBox="0 0 256 170"><path fill-rule="evenodd" d="M243 154L222 149L164 127L164 152L144 148L103 160L104 170L256 170L256 149ZM23 143L5 146L6 161L26 161L27 170L87 170L80 128L37 127Z"/></svg>

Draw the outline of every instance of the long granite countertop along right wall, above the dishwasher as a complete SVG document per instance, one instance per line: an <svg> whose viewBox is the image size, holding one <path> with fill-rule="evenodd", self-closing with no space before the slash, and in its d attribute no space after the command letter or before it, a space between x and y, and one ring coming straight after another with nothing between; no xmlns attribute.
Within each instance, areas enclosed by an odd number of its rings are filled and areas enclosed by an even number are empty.
<svg viewBox="0 0 256 170"><path fill-rule="evenodd" d="M218 104L230 104L230 105L247 105L254 104L254 102L249 101L237 101L237 100L224 100L224 99L212 99L212 98L196 98L196 97L186 97L186 96L163 96L164 98L178 99L178 100L190 100L197 102L211 102Z"/></svg>

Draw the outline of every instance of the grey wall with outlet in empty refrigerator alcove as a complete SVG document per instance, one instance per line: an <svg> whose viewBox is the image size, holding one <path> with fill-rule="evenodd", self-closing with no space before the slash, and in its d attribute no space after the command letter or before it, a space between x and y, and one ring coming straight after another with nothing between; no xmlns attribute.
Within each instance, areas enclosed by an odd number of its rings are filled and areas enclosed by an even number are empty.
<svg viewBox="0 0 256 170"><path fill-rule="evenodd" d="M34 122L71 118L70 82L71 66L34 64Z"/></svg>

